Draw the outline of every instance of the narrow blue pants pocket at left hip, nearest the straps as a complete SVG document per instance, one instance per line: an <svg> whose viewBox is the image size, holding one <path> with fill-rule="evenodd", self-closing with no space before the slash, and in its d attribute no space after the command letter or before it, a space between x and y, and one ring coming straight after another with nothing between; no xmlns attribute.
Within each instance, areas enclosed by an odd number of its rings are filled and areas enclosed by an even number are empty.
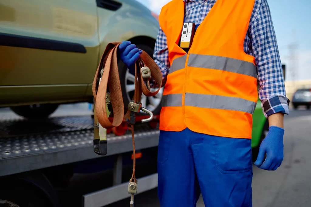
<svg viewBox="0 0 311 207"><path fill-rule="evenodd" d="M169 156L171 134L168 131L160 131L158 145L158 162L163 164Z"/></svg>

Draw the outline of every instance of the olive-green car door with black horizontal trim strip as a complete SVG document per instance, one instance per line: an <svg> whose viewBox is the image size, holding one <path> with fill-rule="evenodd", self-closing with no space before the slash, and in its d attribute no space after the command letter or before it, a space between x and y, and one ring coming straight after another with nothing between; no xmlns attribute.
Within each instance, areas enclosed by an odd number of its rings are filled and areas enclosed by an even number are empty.
<svg viewBox="0 0 311 207"><path fill-rule="evenodd" d="M98 52L95 0L1 0L0 100L79 99Z"/></svg>

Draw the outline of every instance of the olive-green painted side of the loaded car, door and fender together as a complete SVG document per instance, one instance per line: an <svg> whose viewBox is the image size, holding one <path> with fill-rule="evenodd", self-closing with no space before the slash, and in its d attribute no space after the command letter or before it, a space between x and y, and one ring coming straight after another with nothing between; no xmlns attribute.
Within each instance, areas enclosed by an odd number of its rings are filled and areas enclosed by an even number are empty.
<svg viewBox="0 0 311 207"><path fill-rule="evenodd" d="M91 85L105 46L138 36L155 40L158 32L159 23L149 9L134 0L119 2L122 7L111 11L97 7L95 0L1 1L0 34L79 44L86 53L0 46L0 105L92 98Z"/></svg>

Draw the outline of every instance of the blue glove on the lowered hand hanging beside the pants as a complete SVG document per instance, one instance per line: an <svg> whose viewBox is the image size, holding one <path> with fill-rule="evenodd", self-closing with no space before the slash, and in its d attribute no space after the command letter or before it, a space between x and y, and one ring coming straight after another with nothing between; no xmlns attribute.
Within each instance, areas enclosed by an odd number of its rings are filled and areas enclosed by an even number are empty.
<svg viewBox="0 0 311 207"><path fill-rule="evenodd" d="M269 127L267 137L260 144L258 157L254 163L257 167L264 170L276 170L281 166L284 158L283 135L284 129L277 126Z"/></svg>

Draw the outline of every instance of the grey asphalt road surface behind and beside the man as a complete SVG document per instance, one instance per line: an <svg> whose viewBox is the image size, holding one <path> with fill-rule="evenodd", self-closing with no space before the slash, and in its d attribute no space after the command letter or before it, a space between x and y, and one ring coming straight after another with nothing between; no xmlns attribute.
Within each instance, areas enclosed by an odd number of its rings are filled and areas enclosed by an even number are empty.
<svg viewBox="0 0 311 207"><path fill-rule="evenodd" d="M265 171L253 166L253 207L311 207L311 111L290 111L284 127L281 167ZM125 199L108 207L128 205ZM157 189L135 196L135 207L159 206ZM204 207L202 196L197 207Z"/></svg>

